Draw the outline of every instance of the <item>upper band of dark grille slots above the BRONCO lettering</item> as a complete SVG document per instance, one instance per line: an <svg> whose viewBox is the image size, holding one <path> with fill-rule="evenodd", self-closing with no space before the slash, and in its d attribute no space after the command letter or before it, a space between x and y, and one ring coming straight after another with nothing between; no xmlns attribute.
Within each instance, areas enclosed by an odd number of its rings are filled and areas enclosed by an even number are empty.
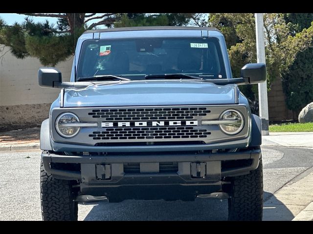
<svg viewBox="0 0 313 234"><path fill-rule="evenodd" d="M88 115L106 121L188 120L210 112L206 107L94 109Z"/></svg>

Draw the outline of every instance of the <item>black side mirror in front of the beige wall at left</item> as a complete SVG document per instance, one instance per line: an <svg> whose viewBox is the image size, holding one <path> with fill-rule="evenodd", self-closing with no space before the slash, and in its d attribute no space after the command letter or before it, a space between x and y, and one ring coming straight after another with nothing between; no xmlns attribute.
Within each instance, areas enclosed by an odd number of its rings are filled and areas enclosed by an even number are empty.
<svg viewBox="0 0 313 234"><path fill-rule="evenodd" d="M38 70L38 83L41 87L58 88L62 83L62 73L53 67Z"/></svg>

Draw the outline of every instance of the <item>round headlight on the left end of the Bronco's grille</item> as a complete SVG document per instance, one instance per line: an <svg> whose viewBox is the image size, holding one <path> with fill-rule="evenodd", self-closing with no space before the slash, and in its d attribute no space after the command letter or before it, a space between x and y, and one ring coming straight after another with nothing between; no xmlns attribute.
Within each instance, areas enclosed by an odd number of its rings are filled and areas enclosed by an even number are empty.
<svg viewBox="0 0 313 234"><path fill-rule="evenodd" d="M79 123L79 118L67 112L57 118L55 128L61 137L74 137L80 130L80 127L75 127L75 123Z"/></svg>

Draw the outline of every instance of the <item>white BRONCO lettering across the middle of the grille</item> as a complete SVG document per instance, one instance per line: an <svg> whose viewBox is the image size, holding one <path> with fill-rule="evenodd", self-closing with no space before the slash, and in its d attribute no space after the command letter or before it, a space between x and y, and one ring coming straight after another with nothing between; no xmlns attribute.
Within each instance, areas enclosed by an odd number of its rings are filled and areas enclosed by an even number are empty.
<svg viewBox="0 0 313 234"><path fill-rule="evenodd" d="M142 126L189 126L198 125L198 120L188 121L137 121L137 122L102 122L101 127L142 127Z"/></svg>

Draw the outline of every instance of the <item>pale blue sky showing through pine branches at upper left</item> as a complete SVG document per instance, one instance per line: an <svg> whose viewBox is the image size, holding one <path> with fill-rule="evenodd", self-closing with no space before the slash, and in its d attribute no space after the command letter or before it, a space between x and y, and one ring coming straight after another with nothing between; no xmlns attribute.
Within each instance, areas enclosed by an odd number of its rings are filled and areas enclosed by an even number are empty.
<svg viewBox="0 0 313 234"><path fill-rule="evenodd" d="M90 14L90 13L87 13ZM97 13L95 16L101 16L105 13ZM25 19L25 15L19 15L16 13L0 13L0 18L2 18L7 25L12 25L15 22L21 23ZM31 17L34 22L44 22L45 20L48 20L50 23L56 23L58 18L53 17ZM96 20L97 21L97 20ZM95 22L95 20L90 20L87 25L90 25L90 23ZM104 25L97 26L98 28L105 28Z"/></svg>

